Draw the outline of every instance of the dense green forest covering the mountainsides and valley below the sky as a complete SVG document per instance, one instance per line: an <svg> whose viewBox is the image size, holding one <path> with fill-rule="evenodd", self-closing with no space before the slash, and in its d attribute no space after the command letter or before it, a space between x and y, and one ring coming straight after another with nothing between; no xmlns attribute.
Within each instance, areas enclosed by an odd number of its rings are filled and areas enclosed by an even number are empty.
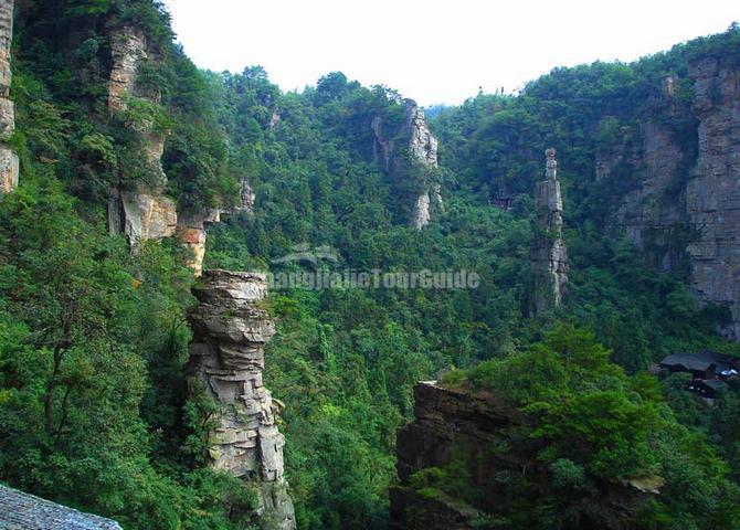
<svg viewBox="0 0 740 530"><path fill-rule="evenodd" d="M706 224L699 203L737 178L728 80L738 41L732 28L631 65L557 70L517 97L480 95L415 137L430 161L438 138L438 163L403 157L390 172L379 142L403 156L409 118L421 116L389 88L332 73L282 93L260 67L201 72L149 0L18 0L8 147L21 179L0 202L0 480L126 529L257 524L249 483L205 465L213 404L189 398L183 375L195 282L186 265L205 250L208 268L303 271L273 261L307 245L330 247L320 264L330 271L466 269L480 285L273 293L265 381L286 405L278 423L298 528L390 524L395 431L411 420L415 382L451 367L478 368L454 371L450 385L493 389L541 414L550 449L537 455L538 476L567 486L554 489L565 510L517 497L517 485L505 508L536 507L540 528L573 524L569 499L614 479L625 458L630 473L660 475L666 491L700 485L697 498L656 497L631 528L736 528L737 389L709 410L680 377L658 382L644 370L678 350L737 351L716 333L732 321L726 309L691 293L731 303L702 295L691 259L726 262L684 250L731 248L725 226L706 241L691 234ZM112 105L116 80L125 89ZM558 311L530 319L531 193L550 146L570 284ZM709 173L693 169L697 159ZM160 172L166 181L150 178ZM726 180L712 188L702 174ZM697 189L709 199L691 202ZM423 230L410 225L420 198L437 194L443 208L424 214ZM649 202L663 199L665 215ZM145 229L145 219L158 221ZM551 378L530 377L531 363ZM609 435L590 425L585 442L552 421L578 427L581 412L604 411L623 421ZM416 484L450 489L435 477ZM494 522L525 528L503 511Z"/></svg>

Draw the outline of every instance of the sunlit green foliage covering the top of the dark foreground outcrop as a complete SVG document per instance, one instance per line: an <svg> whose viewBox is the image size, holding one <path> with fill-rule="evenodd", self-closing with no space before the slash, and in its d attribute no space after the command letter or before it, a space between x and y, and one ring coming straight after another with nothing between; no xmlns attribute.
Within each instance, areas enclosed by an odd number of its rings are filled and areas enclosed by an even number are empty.
<svg viewBox="0 0 740 530"><path fill-rule="evenodd" d="M658 484L660 496L637 506L645 526L639 528L674 528L675 521L700 528L706 520L737 528L737 508L729 506L738 487L727 464L705 437L678 423L656 382L643 374L636 384L610 362L609 353L593 333L558 324L529 351L472 369L468 385L506 398L527 414L518 435L540 444L537 458L548 465L552 495L563 505L560 520L573 516L568 512L575 505L565 499L598 498L598 484L645 479ZM546 364L557 368L539 368ZM522 381L524 386L507 381ZM702 494L695 496L687 480ZM529 497L527 488L521 495ZM712 501L700 500L705 495ZM532 498L536 506L551 500Z"/></svg>

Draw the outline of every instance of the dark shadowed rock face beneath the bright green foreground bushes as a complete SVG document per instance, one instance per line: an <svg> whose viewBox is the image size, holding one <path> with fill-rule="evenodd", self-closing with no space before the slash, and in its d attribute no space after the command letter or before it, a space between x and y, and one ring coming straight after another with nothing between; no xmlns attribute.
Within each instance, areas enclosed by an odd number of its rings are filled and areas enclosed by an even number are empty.
<svg viewBox="0 0 740 530"><path fill-rule="evenodd" d="M399 485L390 490L397 528L536 528L536 515L522 517L521 506L562 498L538 456L542 442L520 434L527 416L495 395L421 382L414 415L397 437ZM579 512L579 523L568 528L634 528L630 521L648 498L635 485L600 484L590 495L568 499L568 508Z"/></svg>

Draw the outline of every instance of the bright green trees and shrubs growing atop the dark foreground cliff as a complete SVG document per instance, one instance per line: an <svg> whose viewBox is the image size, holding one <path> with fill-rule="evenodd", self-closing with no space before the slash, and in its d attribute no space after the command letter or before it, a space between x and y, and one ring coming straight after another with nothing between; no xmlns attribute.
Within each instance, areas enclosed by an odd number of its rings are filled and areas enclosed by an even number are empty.
<svg viewBox="0 0 740 530"><path fill-rule="evenodd" d="M512 488L496 515L508 517L515 528L559 528L543 526L547 519L579 528L579 510L594 510L601 502L601 509L611 510L605 490L614 495L632 481L653 484L660 494L651 499L623 494L621 509L631 513L622 516L626 528L738 528L740 489L709 443L720 433L699 434L681 425L660 382L646 373L626 375L610 361L611 353L593 332L559 322L520 352L445 374L443 385L494 394L526 417L509 451L529 459L531 475L540 477L537 469L545 469L545 478ZM726 394L720 402L732 406L737 396ZM455 465L471 466L465 460ZM474 470L456 474L464 475ZM444 476L450 481L437 478L436 488L450 488L474 506L487 498L485 486L455 483L448 471ZM522 497L531 504L525 519L518 510ZM531 513L536 519L527 519Z"/></svg>

